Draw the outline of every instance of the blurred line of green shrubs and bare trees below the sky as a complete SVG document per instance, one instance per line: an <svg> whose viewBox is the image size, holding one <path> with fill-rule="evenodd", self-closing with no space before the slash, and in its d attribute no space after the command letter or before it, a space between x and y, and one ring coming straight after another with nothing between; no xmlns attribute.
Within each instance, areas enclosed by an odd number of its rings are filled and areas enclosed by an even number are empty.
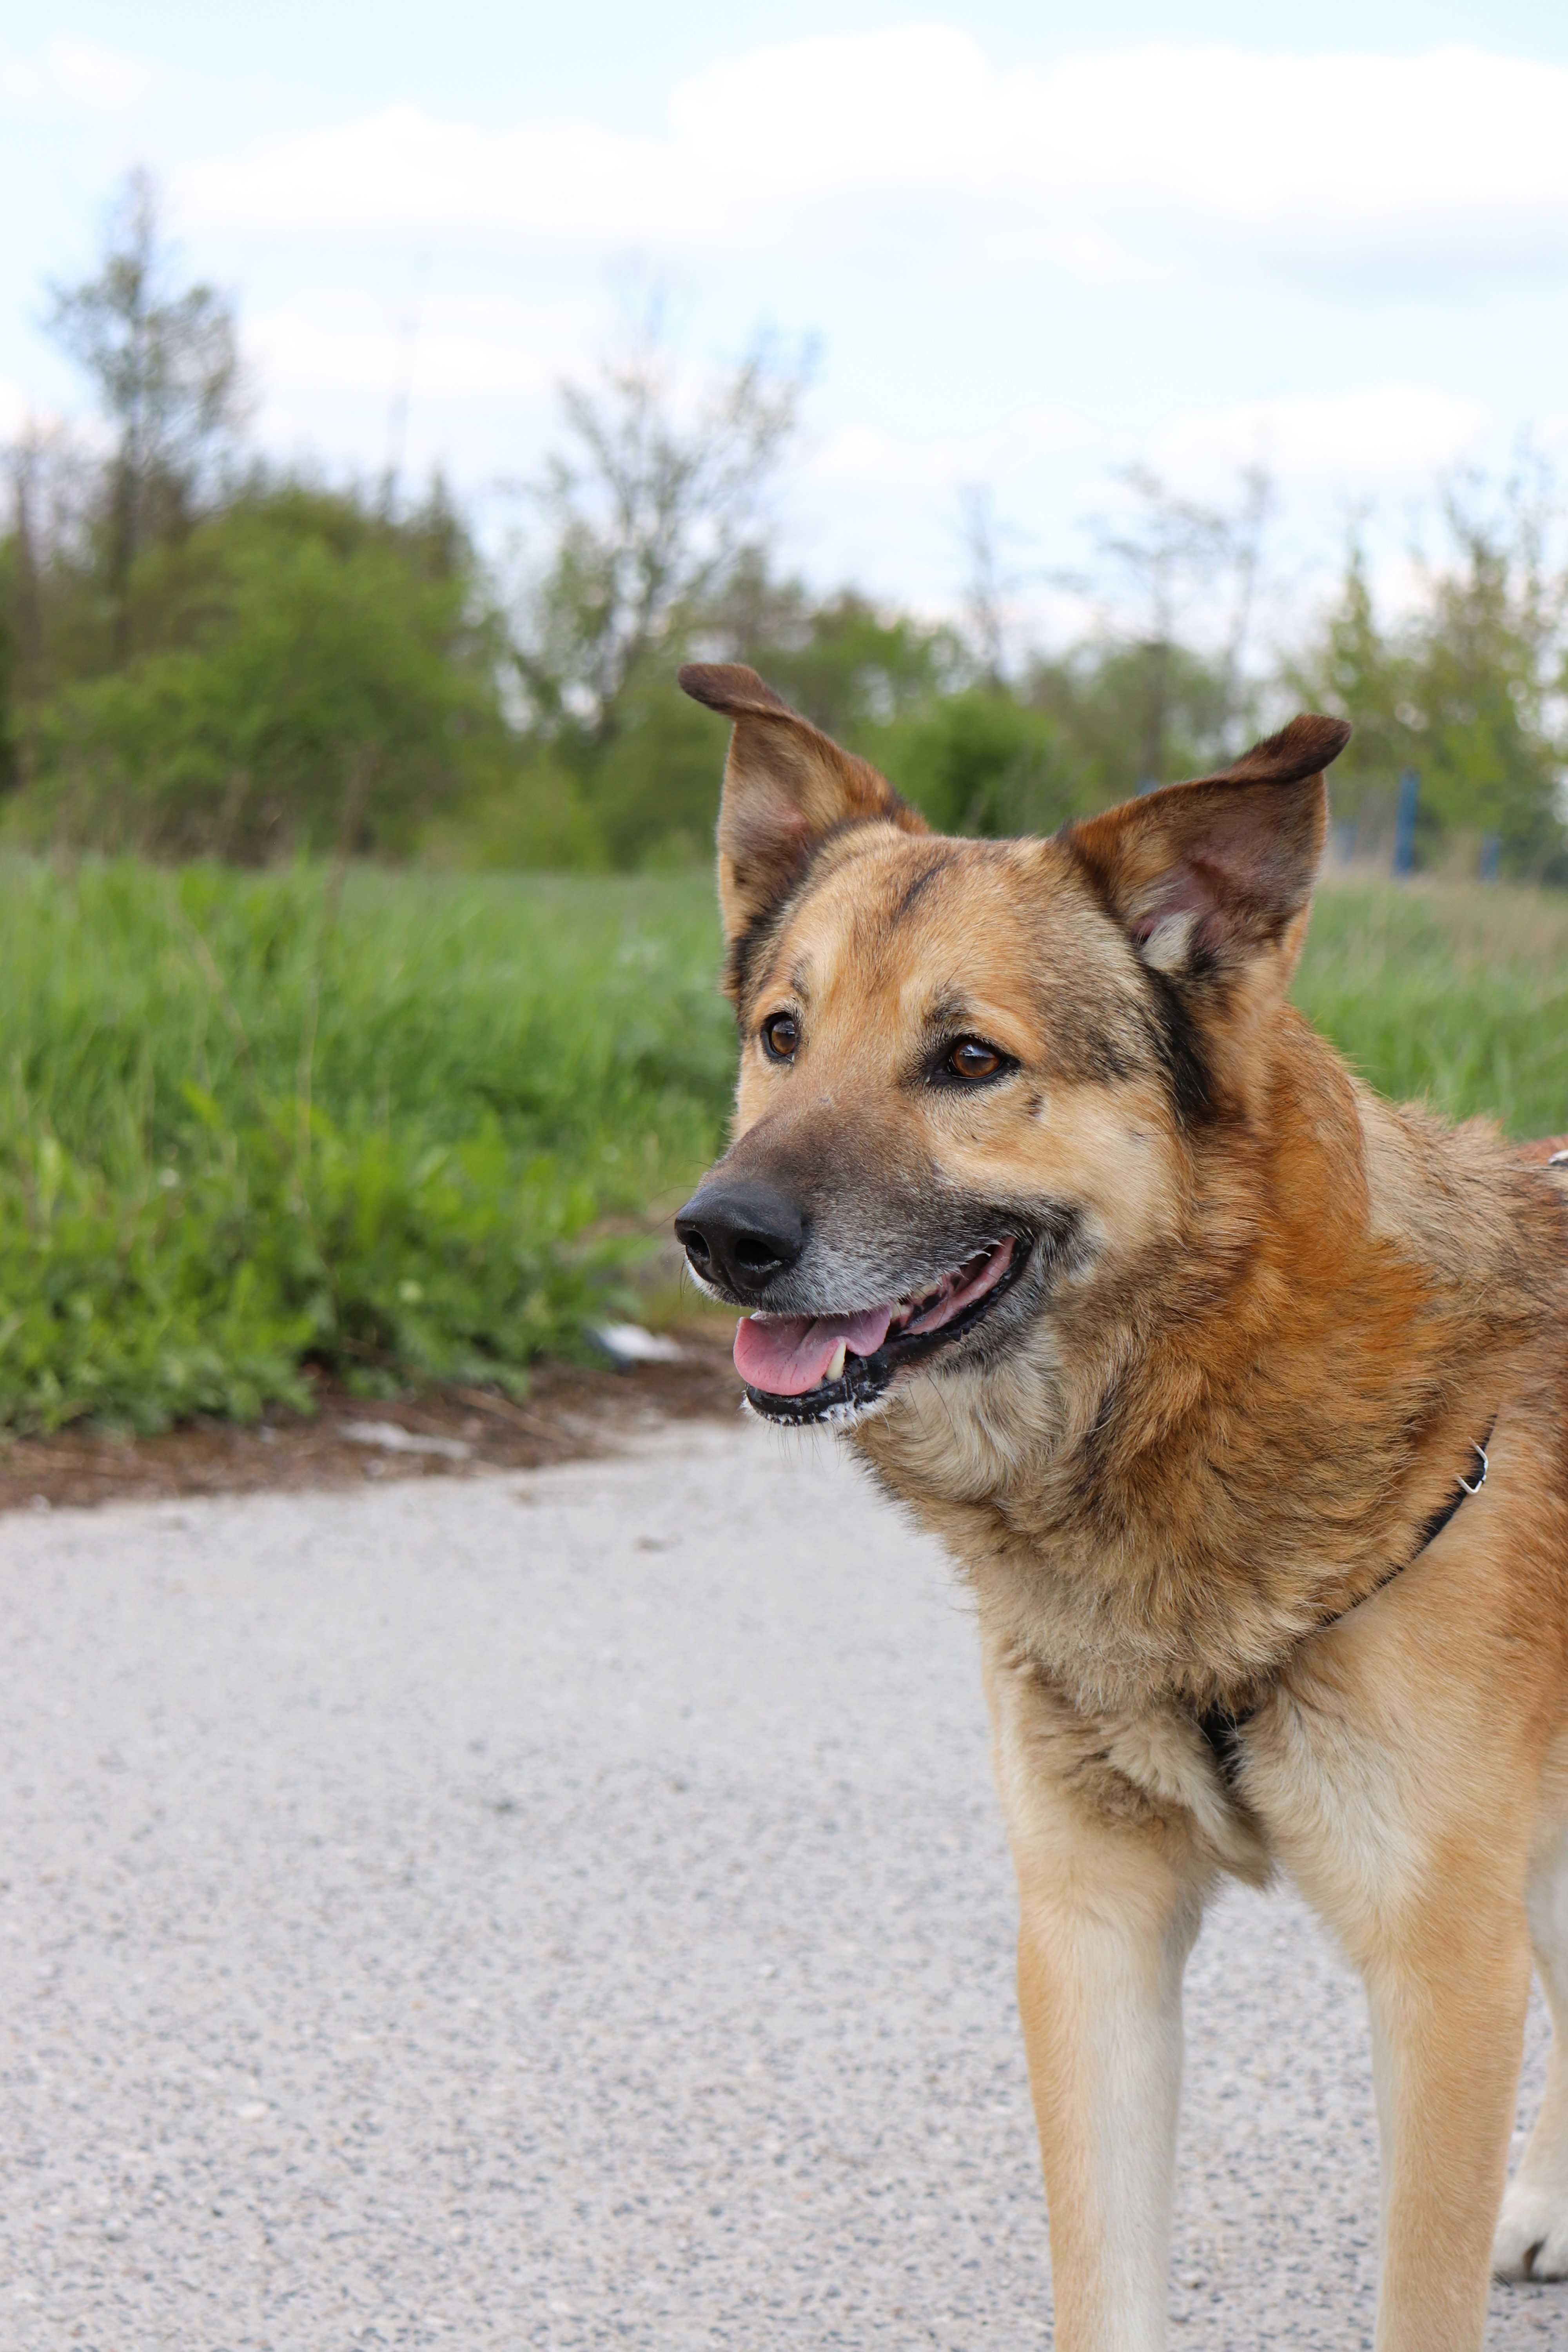
<svg viewBox="0 0 1568 2352"><path fill-rule="evenodd" d="M233 303L181 285L132 174L96 273L49 292L92 440L5 452L0 837L261 863L301 851L477 866L708 854L710 720L682 659L750 661L943 828L1044 830L1227 757L1286 706L1356 724L1342 844L1380 856L1420 774L1418 858L1568 882L1568 572L1554 485L1453 480L1399 614L1352 539L1284 654L1258 642L1269 485L1227 506L1124 477L1103 619L1011 642L985 496L969 590L933 623L778 562L769 494L802 367L759 346L686 395L649 334L562 393L559 447L487 557L440 480L329 485L247 445Z"/></svg>

